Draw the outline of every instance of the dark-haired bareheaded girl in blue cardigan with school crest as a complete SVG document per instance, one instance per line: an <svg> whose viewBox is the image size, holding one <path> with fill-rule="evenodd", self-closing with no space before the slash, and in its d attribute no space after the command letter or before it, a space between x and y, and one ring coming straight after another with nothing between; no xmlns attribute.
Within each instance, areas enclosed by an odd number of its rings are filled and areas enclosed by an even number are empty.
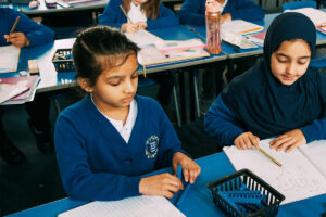
<svg viewBox="0 0 326 217"><path fill-rule="evenodd" d="M179 178L141 176L168 166L176 173L177 165L187 182L200 174L162 107L136 95L137 52L121 31L105 26L86 29L74 43L76 76L88 94L60 114L54 132L63 186L73 200L172 197L184 188Z"/></svg>

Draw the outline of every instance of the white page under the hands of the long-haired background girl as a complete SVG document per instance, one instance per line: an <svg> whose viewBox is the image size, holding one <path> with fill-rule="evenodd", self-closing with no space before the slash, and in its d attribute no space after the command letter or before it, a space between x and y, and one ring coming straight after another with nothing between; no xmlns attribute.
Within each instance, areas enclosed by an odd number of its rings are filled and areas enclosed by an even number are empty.
<svg viewBox="0 0 326 217"><path fill-rule="evenodd" d="M164 41L162 38L159 38L158 36L141 29L133 34L125 33L127 38L135 42L138 47L143 47L148 44L152 44L155 41Z"/></svg>

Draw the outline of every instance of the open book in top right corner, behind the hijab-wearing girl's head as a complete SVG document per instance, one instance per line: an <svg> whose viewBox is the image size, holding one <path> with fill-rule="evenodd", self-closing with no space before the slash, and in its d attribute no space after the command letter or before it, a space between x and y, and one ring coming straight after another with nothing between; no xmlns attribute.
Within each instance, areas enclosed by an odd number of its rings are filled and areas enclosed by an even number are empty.
<svg viewBox="0 0 326 217"><path fill-rule="evenodd" d="M326 13L313 9L313 8L303 8L296 10L286 10L285 12L298 12L306 15L316 26L316 29L323 34L326 34Z"/></svg>

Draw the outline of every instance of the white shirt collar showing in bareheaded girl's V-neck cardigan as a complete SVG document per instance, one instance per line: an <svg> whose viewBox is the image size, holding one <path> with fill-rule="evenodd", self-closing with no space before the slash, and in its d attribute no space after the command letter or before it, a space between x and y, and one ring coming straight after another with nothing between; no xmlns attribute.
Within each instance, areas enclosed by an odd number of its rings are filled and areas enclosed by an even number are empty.
<svg viewBox="0 0 326 217"><path fill-rule="evenodd" d="M92 97L91 97L91 101L93 103ZM97 107L97 105L95 103L93 103L93 105ZM127 120L126 120L125 125L123 125L122 120L113 119L113 118L108 117L99 108L98 108L98 111L106 119L109 119L109 122L113 125L113 127L118 131L118 133L121 135L121 137L126 141L126 143L128 143L130 135L131 135L131 131L133 131L133 128L134 128L134 125L135 125L135 122L136 122L137 113L138 113L138 107L137 107L136 100L133 99L133 101L130 103L129 114L128 114L128 117L127 117Z"/></svg>

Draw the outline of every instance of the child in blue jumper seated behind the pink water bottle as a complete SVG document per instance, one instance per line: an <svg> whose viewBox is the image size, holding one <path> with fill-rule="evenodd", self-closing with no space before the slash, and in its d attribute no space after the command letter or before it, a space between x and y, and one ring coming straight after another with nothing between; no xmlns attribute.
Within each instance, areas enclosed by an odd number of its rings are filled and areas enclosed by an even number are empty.
<svg viewBox="0 0 326 217"><path fill-rule="evenodd" d="M244 20L244 21L261 21L264 18L263 9L252 0L216 0L222 5L222 22L231 20ZM205 25L205 0L185 0L181 9L178 12L180 23L195 26ZM240 75L244 71L249 69L255 63L255 58L246 59L241 63L236 63L236 69L234 74ZM200 100L201 113L209 108L212 100L215 98L215 89L217 94L224 86L222 74L225 69L224 63L218 63L214 67L205 68L203 73L203 82ZM215 75L214 75L215 74ZM212 79L216 77L216 79ZM231 79L230 77L228 77ZM214 88L214 80L216 80L217 88Z"/></svg>

